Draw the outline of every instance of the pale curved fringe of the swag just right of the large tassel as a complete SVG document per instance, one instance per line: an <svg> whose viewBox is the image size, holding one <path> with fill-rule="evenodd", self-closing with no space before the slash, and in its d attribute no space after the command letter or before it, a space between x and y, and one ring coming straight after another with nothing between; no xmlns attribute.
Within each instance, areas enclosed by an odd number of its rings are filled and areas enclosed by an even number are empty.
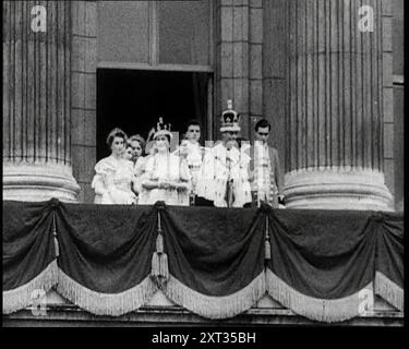
<svg viewBox="0 0 409 349"><path fill-rule="evenodd" d="M265 275L261 273L240 291L224 297L200 293L170 275L164 292L175 303L197 315L229 318L249 310L265 294Z"/></svg>

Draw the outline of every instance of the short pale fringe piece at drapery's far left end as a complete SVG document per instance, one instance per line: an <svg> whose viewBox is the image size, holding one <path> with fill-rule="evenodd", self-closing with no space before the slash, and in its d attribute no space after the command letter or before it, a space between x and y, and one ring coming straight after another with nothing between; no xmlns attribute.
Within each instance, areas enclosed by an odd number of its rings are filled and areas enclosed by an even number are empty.
<svg viewBox="0 0 409 349"><path fill-rule="evenodd" d="M58 282L57 260L52 261L40 274L25 285L3 291L3 314L14 313L33 304L33 292L48 292Z"/></svg>

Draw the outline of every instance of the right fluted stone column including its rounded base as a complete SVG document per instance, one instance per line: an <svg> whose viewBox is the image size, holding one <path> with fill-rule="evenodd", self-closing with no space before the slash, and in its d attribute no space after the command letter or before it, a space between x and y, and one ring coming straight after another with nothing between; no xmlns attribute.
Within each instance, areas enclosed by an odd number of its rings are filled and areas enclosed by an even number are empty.
<svg viewBox="0 0 409 349"><path fill-rule="evenodd" d="M288 1L288 207L392 207L383 173L388 1ZM358 27L361 5L373 9L373 32Z"/></svg>

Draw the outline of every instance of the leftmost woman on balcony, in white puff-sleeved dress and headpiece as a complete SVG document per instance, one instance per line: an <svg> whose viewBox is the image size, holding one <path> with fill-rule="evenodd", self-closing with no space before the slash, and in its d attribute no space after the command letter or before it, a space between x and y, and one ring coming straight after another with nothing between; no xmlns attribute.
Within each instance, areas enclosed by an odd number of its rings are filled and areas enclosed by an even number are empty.
<svg viewBox="0 0 409 349"><path fill-rule="evenodd" d="M135 204L136 195L132 192L133 164L124 158L127 134L120 129L115 129L109 133L107 144L111 155L95 166L96 176L92 186L96 192L96 203Z"/></svg>

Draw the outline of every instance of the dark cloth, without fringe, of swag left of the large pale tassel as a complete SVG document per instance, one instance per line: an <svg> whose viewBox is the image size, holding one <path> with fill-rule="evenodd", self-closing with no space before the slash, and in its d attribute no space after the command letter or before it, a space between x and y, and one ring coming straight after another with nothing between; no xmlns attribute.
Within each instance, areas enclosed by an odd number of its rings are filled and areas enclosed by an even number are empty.
<svg viewBox="0 0 409 349"><path fill-rule="evenodd" d="M60 205L60 269L87 288L119 293L149 275L156 238L151 206Z"/></svg>

